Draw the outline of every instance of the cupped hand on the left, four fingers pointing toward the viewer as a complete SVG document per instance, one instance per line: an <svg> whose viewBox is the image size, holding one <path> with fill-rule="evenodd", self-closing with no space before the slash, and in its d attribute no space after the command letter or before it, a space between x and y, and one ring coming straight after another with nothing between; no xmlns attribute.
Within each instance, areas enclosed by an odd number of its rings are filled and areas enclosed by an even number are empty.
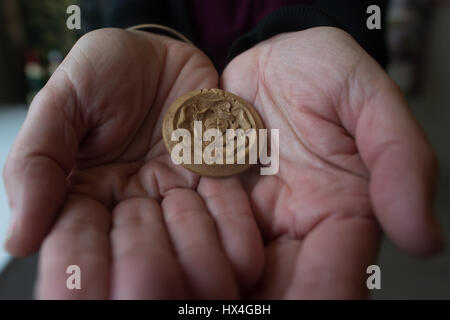
<svg viewBox="0 0 450 320"><path fill-rule="evenodd" d="M74 46L34 99L4 171L6 248L25 256L45 238L39 298L236 297L235 278L254 284L262 243L244 191L222 207L211 193L236 182L199 184L161 139L171 102L217 86L204 54L166 37L100 30ZM66 287L70 265L81 290Z"/></svg>

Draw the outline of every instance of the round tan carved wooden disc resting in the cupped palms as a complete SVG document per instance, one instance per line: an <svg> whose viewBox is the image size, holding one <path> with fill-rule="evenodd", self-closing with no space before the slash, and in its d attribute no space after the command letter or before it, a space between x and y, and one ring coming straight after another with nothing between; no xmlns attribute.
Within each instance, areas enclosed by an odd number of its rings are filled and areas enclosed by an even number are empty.
<svg viewBox="0 0 450 320"><path fill-rule="evenodd" d="M264 129L264 125L256 110L244 99L220 89L201 89L191 91L175 100L164 116L162 135L170 154L172 154L175 145L182 141L181 138L172 141L172 133L176 129L185 129L190 133L191 162L181 163L183 167L199 175L225 177L239 174L254 164L254 161L250 161L250 153L254 155L253 152L256 152L256 156L259 155L258 132L259 129ZM223 137L223 152L208 153L219 160L222 158L222 164L217 163L218 161L208 164L205 161L206 158L203 157L203 152L213 149L214 146L221 145L220 140L216 140L215 137L205 141L207 139L204 138L204 134L208 129L217 129L218 131L214 131ZM248 133L252 131L249 129L255 129L253 130L255 139L243 138L239 140L241 143L238 143L237 137L227 136L230 131L228 129L235 129L232 132L238 134L242 132ZM202 140L201 145L197 144L201 148L195 149L194 137ZM230 147L229 150L233 149L233 157L230 157L230 153L227 153L226 149L227 143L231 142L231 140L234 140L234 143L230 144L233 148ZM245 143L242 143L243 141ZM213 142L216 145L210 146ZM209 149L205 149L208 146ZM238 151L239 146L241 151ZM201 152L198 152L200 149ZM245 161L243 160L243 155L245 155ZM226 158L227 156L228 159ZM238 157L240 157L240 161L244 161L243 164L242 162L238 163ZM201 164L195 164L195 158L201 159ZM230 162L234 163L230 164Z"/></svg>

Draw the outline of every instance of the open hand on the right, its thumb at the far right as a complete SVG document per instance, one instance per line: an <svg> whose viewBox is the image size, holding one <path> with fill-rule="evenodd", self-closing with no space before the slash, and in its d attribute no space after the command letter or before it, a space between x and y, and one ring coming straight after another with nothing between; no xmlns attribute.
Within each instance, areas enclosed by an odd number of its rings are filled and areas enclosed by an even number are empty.
<svg viewBox="0 0 450 320"><path fill-rule="evenodd" d="M225 90L280 129L276 176L245 174L265 243L257 298L361 298L379 228L437 252L436 160L397 86L345 32L278 35L233 60Z"/></svg>

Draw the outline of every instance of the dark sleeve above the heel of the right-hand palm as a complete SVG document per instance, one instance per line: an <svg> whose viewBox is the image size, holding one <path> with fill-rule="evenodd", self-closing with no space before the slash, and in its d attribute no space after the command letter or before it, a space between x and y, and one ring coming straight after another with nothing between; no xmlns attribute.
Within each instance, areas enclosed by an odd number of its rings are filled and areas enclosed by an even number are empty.
<svg viewBox="0 0 450 320"><path fill-rule="evenodd" d="M382 13L381 30L369 30L367 8L378 5ZM289 5L275 10L262 19L250 32L231 46L228 61L255 44L283 32L329 26L345 30L383 67L386 67L385 12L387 1L377 0L316 0L310 5Z"/></svg>

